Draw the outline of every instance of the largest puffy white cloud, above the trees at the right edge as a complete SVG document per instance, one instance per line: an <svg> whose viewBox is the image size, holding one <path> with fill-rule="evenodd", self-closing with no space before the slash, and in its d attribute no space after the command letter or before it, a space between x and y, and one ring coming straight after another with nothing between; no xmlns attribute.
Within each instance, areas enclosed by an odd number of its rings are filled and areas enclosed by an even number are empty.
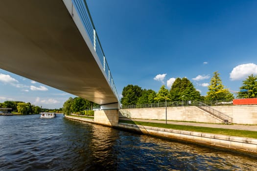
<svg viewBox="0 0 257 171"><path fill-rule="evenodd" d="M244 80L251 74L257 75L256 64L240 64L233 68L233 70L230 73L230 78L231 80Z"/></svg>

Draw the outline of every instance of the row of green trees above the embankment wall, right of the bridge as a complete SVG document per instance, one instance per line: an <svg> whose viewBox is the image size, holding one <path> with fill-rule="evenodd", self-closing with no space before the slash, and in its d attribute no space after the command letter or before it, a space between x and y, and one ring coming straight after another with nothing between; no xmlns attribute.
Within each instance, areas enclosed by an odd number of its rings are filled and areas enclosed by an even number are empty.
<svg viewBox="0 0 257 171"><path fill-rule="evenodd" d="M257 76L250 75L243 81L243 85L239 89L239 92L236 93L237 98L257 97ZM234 95L222 84L218 71L213 73L208 90L206 96L201 96L200 92L186 77L176 78L169 90L165 88L165 85L162 85L158 93L152 89L142 89L138 85L127 85L122 91L121 104L127 106L165 101L232 101L234 99ZM247 92L242 90L247 90Z"/></svg>

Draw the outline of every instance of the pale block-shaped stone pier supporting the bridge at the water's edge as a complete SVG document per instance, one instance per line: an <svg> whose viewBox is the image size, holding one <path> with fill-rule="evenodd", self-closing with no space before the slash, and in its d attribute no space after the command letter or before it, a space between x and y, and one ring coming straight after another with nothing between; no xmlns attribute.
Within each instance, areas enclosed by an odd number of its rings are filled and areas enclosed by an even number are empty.
<svg viewBox="0 0 257 171"><path fill-rule="evenodd" d="M108 126L118 126L118 109L94 110L94 123Z"/></svg>

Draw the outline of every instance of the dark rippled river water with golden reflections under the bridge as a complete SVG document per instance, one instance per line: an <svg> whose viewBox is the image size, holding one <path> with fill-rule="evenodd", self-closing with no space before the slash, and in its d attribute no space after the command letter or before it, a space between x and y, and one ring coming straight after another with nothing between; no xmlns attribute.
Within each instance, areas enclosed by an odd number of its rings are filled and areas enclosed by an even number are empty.
<svg viewBox="0 0 257 171"><path fill-rule="evenodd" d="M257 158L72 121L0 116L0 171L255 171Z"/></svg>

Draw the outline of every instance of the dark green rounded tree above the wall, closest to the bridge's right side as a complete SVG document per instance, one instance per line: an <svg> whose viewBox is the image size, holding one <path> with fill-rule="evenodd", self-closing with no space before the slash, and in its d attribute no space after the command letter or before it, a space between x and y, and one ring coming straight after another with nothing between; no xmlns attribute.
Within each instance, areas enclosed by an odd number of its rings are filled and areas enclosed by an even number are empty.
<svg viewBox="0 0 257 171"><path fill-rule="evenodd" d="M122 90L122 105L136 105L142 96L142 88L138 85L127 85Z"/></svg>

